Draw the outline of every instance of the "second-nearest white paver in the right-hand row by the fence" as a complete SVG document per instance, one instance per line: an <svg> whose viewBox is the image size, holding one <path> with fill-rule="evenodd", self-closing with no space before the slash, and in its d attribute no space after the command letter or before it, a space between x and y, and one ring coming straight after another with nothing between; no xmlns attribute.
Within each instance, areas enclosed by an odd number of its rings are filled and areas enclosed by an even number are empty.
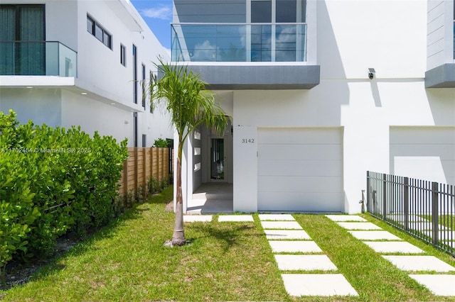
<svg viewBox="0 0 455 302"><path fill-rule="evenodd" d="M455 271L446 262L434 256L392 256L382 255L399 269L404 271L435 271L435 272L451 272Z"/></svg>

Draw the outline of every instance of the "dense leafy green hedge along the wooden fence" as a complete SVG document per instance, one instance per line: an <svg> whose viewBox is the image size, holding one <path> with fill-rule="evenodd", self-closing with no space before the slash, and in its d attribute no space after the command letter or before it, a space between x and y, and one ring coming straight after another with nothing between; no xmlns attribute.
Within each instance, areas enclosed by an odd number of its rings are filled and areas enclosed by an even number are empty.
<svg viewBox="0 0 455 302"><path fill-rule="evenodd" d="M0 267L49 255L58 237L85 235L116 213L127 140L79 128L19 125L0 112Z"/></svg>

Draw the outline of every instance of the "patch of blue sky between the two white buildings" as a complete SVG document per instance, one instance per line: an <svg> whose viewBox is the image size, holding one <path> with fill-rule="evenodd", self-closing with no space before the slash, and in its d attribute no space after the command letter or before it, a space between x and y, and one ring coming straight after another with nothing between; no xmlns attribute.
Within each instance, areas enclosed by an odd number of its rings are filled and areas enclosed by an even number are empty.
<svg viewBox="0 0 455 302"><path fill-rule="evenodd" d="M130 0L161 44L171 49L172 0Z"/></svg>

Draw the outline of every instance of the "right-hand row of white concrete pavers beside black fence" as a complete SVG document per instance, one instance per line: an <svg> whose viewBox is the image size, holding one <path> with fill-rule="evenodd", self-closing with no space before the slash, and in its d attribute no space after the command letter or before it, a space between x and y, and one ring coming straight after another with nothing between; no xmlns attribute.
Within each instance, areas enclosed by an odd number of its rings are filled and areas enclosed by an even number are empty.
<svg viewBox="0 0 455 302"><path fill-rule="evenodd" d="M346 228L351 235L358 240L362 240L365 245L371 247L375 252L382 254L382 257L392 262L399 269L406 272L438 272L439 274L409 274L409 276L419 282L419 284L426 286L437 296L455 296L455 275L441 274L443 272L453 272L455 267L446 264L446 262L437 257L422 255L424 251L419 249L419 247L402 241L400 237L378 228L373 223L371 223L370 229L368 229L368 225L360 225L358 221L363 221L360 216L326 215L326 217ZM359 218L361 219L359 220ZM419 220L414 223L423 223L423 221Z"/></svg>

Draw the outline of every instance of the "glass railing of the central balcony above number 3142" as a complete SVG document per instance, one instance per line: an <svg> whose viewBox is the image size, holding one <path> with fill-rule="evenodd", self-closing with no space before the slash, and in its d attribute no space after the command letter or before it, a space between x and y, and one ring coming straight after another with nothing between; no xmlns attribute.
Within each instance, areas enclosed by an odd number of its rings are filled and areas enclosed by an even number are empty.
<svg viewBox="0 0 455 302"><path fill-rule="evenodd" d="M306 62L306 23L174 23L174 62Z"/></svg>

